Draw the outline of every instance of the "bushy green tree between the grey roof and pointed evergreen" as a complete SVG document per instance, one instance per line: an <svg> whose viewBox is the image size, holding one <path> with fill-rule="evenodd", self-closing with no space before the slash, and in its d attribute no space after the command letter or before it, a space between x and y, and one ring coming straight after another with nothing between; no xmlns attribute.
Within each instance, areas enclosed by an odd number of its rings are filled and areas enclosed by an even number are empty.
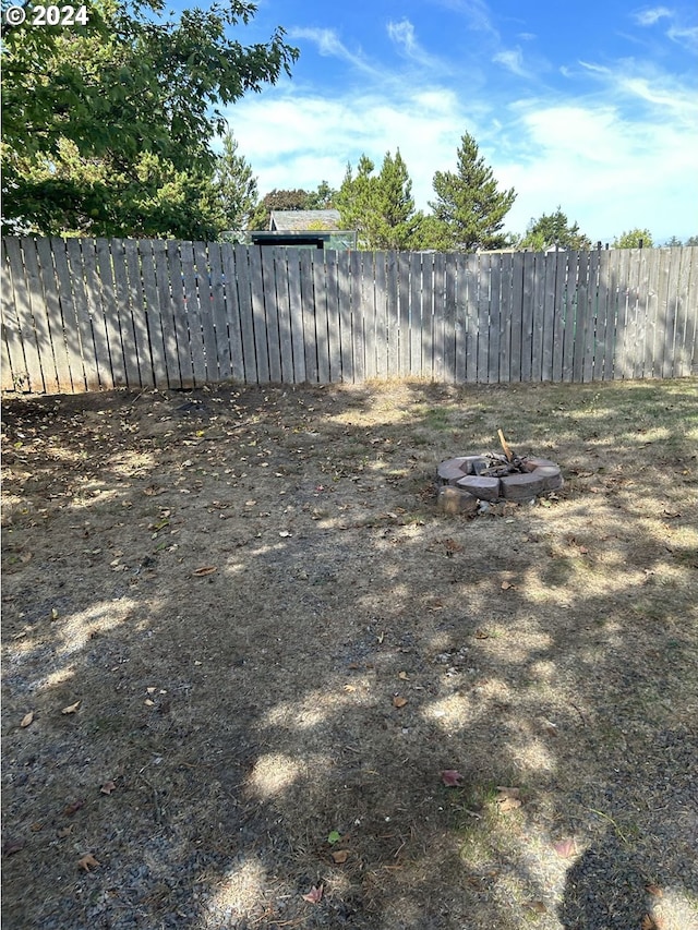
<svg viewBox="0 0 698 930"><path fill-rule="evenodd" d="M362 155L356 176L347 166L337 194L337 208L346 229L356 229L359 247L406 250L414 247L422 214L414 208L412 181L398 152L383 159L378 174L375 165Z"/></svg>

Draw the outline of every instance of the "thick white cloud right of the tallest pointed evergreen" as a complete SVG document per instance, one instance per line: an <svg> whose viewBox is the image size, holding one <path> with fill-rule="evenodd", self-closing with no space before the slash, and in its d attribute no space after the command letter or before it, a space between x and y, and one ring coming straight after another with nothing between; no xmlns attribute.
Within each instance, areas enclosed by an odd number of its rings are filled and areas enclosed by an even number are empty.
<svg viewBox="0 0 698 930"><path fill-rule="evenodd" d="M607 242L623 229L648 226L660 241L691 234L675 212L682 198L696 203L698 194L694 148L683 131L658 133L611 106L539 101L521 106L509 132L526 149L497 172L519 192L507 217L510 229L561 205L593 240Z"/></svg>

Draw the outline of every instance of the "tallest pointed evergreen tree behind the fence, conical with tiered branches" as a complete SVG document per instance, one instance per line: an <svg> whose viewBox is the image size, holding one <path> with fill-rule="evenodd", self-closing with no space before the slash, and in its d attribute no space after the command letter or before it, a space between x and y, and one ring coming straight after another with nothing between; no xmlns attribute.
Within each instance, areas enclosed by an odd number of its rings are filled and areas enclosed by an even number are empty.
<svg viewBox="0 0 698 930"><path fill-rule="evenodd" d="M435 222L431 246L443 251L472 252L477 249L503 249L502 232L516 193L500 191L492 168L479 155L474 138L466 133L458 148L457 171L434 174L436 200L430 203Z"/></svg>

